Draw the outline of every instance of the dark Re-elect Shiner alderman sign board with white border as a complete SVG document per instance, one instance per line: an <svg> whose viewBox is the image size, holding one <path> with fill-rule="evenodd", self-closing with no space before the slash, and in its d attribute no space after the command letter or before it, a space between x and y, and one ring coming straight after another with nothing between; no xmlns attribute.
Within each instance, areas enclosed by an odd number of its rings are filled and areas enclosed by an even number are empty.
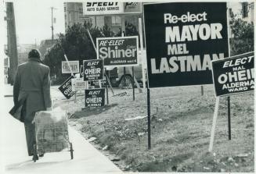
<svg viewBox="0 0 256 174"><path fill-rule="evenodd" d="M104 66L138 66L138 36L97 38L97 58Z"/></svg>

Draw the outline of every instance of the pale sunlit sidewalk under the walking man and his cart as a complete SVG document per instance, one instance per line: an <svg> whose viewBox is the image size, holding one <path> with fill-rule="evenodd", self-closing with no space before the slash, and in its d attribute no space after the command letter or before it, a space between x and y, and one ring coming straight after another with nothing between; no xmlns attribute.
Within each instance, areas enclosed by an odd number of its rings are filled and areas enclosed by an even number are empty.
<svg viewBox="0 0 256 174"><path fill-rule="evenodd" d="M10 86L5 85L6 96L12 94ZM70 160L70 152L46 153L43 158L33 162L27 156L27 146L23 124L13 119L9 109L13 106L13 98L5 97L5 115L2 115L1 156L5 162L6 173L87 173L118 172L113 162L101 154L84 137L69 126L70 141L74 146L74 159Z"/></svg>

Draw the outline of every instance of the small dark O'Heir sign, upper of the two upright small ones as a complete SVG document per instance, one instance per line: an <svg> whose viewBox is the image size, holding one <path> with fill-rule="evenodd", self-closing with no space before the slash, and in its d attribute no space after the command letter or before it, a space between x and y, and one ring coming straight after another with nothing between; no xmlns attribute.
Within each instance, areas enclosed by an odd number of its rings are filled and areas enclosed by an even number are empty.
<svg viewBox="0 0 256 174"><path fill-rule="evenodd" d="M102 80L104 73L103 59L92 59L83 61L84 80Z"/></svg>

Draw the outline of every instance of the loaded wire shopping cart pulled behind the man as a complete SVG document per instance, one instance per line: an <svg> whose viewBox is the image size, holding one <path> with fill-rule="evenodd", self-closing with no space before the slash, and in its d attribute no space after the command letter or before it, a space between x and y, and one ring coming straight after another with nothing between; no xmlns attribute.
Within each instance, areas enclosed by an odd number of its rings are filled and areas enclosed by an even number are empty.
<svg viewBox="0 0 256 174"><path fill-rule="evenodd" d="M74 158L74 150L68 134L67 112L61 108L36 112L34 123L36 135L34 162L37 160L37 154L49 152L70 151L71 159Z"/></svg>

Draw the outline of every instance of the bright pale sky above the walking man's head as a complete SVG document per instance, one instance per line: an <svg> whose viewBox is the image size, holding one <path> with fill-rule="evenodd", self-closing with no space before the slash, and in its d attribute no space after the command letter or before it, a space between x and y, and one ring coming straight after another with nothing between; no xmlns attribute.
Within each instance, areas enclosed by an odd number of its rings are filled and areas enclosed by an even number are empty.
<svg viewBox="0 0 256 174"><path fill-rule="evenodd" d="M52 13L54 34L64 33L64 5L62 0L13 0L18 44L40 44L52 38Z"/></svg>

